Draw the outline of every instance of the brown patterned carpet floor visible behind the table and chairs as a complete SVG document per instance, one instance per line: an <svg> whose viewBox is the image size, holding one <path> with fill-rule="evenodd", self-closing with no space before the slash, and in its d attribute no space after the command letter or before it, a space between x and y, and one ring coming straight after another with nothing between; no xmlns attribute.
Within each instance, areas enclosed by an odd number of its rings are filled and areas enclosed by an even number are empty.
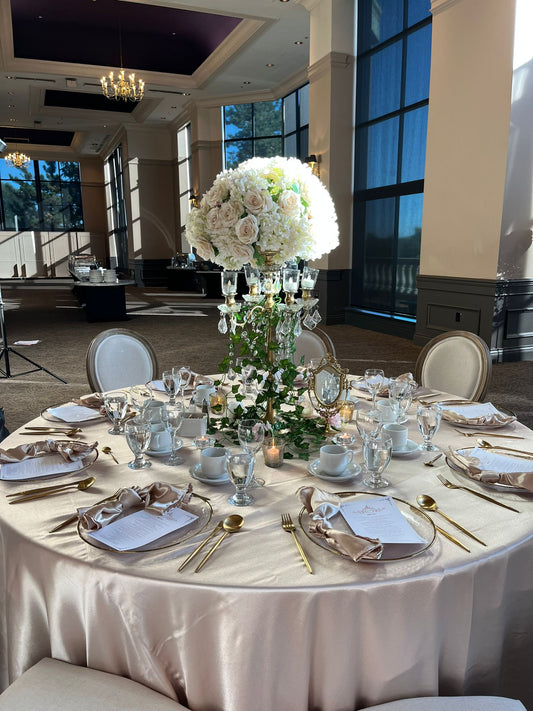
<svg viewBox="0 0 533 711"><path fill-rule="evenodd" d="M218 372L227 340L217 330L219 301L165 289L128 287L128 321L88 323L68 281L46 285L3 282L6 334L16 351L67 381L43 371L16 375L32 368L10 353L16 377L2 379L0 406L13 430L35 417L46 406L65 402L89 391L85 354L92 338L107 328L128 328L145 336L155 349L159 370L188 364L200 373ZM327 326L337 358L351 373L381 367L386 375L414 371L420 351L411 341L354 326ZM33 346L16 346L19 340L39 340ZM5 371L5 360L0 362ZM533 362L505 363L493 367L487 400L512 409L533 427Z"/></svg>

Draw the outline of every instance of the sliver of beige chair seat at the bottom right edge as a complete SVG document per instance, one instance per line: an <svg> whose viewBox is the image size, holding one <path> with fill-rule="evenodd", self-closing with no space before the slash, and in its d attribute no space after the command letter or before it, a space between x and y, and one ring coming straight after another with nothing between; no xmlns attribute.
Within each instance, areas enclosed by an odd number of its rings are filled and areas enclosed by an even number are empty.
<svg viewBox="0 0 533 711"><path fill-rule="evenodd" d="M500 696L421 696L368 706L361 711L526 711L526 708L520 701Z"/></svg>

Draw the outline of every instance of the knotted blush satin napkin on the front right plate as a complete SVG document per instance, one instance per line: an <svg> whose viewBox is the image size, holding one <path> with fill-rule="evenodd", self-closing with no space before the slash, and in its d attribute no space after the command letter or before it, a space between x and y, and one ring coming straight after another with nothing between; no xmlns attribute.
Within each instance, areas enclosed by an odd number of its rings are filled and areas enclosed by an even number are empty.
<svg viewBox="0 0 533 711"><path fill-rule="evenodd" d="M356 563L361 558L379 560L383 553L383 544L379 540L345 533L332 527L330 519L339 513L342 503L339 496L313 486L303 486L298 490L298 496L309 514L309 533L323 538L332 548Z"/></svg>

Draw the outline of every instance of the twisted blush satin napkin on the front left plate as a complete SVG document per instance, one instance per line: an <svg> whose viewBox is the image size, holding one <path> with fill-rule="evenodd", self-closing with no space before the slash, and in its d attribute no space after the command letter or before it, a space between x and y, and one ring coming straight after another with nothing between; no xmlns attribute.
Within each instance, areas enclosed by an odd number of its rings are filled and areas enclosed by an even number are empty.
<svg viewBox="0 0 533 711"><path fill-rule="evenodd" d="M78 509L80 522L88 531L95 531L111 523L119 516L144 508L155 514L164 514L180 508L192 496L192 485L187 489L177 489L170 484L154 481L143 489L122 489L111 501L103 501L88 509Z"/></svg>

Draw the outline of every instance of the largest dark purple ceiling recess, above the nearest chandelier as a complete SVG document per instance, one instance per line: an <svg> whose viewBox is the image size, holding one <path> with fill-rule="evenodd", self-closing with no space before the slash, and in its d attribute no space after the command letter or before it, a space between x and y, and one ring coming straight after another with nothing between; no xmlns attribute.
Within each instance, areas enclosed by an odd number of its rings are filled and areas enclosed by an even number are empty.
<svg viewBox="0 0 533 711"><path fill-rule="evenodd" d="M11 0L16 57L191 75L240 18L119 0ZM120 29L119 29L120 28Z"/></svg>

